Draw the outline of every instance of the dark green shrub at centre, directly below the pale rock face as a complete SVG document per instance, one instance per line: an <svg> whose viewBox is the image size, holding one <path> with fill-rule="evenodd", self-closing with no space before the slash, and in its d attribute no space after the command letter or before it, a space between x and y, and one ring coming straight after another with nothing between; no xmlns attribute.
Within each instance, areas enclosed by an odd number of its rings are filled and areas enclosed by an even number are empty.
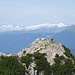
<svg viewBox="0 0 75 75"><path fill-rule="evenodd" d="M39 53L39 51L34 53L34 60L36 66L34 69L44 72L44 75L51 75L50 63L48 63L45 53Z"/></svg>

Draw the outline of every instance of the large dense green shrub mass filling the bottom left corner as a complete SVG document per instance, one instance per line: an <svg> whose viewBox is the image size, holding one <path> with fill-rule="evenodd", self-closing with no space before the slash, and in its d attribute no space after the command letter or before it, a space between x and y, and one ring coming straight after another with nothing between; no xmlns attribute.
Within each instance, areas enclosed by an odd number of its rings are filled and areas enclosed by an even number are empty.
<svg viewBox="0 0 75 75"><path fill-rule="evenodd" d="M25 67L18 62L15 56L1 57L0 75L23 75L25 72Z"/></svg>

